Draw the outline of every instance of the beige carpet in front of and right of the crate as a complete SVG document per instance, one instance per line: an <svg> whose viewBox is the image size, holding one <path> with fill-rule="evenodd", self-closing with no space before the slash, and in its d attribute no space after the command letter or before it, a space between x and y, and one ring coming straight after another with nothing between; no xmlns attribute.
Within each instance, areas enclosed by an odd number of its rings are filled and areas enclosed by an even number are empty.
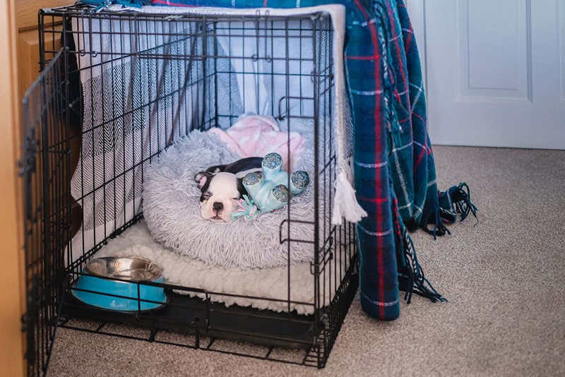
<svg viewBox="0 0 565 377"><path fill-rule="evenodd" d="M565 151L436 147L439 188L468 182L480 222L413 234L448 303L400 318L358 299L325 369L59 329L49 376L565 376Z"/></svg>

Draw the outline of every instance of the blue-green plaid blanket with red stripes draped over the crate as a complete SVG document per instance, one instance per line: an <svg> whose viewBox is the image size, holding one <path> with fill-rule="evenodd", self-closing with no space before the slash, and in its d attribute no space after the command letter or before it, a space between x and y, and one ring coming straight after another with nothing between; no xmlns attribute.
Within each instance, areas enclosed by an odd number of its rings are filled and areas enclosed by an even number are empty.
<svg viewBox="0 0 565 377"><path fill-rule="evenodd" d="M108 1L84 0L90 4ZM357 223L362 308L392 320L400 290L443 300L424 277L408 235L419 227L441 235L432 144L420 56L403 0L114 0L141 6L298 8L343 4L344 59L355 126L357 201L367 212Z"/></svg>

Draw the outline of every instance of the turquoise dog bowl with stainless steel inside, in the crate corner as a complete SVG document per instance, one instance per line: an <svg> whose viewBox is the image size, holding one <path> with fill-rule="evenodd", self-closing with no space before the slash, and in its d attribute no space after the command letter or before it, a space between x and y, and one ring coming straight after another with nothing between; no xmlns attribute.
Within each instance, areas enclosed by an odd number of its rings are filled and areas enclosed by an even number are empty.
<svg viewBox="0 0 565 377"><path fill-rule="evenodd" d="M85 304L116 311L145 311L167 303L158 265L143 258L97 258L89 261L72 293Z"/></svg>

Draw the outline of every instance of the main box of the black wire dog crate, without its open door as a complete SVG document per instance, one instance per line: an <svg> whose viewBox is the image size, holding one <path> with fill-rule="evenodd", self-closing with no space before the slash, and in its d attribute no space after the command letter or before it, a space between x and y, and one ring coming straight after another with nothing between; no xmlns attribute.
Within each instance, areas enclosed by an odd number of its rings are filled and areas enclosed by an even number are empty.
<svg viewBox="0 0 565 377"><path fill-rule="evenodd" d="M42 41L54 41L42 42L42 76L59 84L36 90L62 102L49 107L54 121L24 125L24 150L59 159L25 179L25 201L49 212L26 235L55 261L40 283L54 287L47 322L321 368L358 284L355 226L332 221L331 16L190 12L40 11L40 33L52 36ZM273 129L236 133L249 119ZM195 172L234 160L226 135L242 150L280 142L287 169L307 172L304 192L273 213L239 201L242 217L204 220ZM84 286L100 258L139 258L160 279L96 277L133 295Z"/></svg>

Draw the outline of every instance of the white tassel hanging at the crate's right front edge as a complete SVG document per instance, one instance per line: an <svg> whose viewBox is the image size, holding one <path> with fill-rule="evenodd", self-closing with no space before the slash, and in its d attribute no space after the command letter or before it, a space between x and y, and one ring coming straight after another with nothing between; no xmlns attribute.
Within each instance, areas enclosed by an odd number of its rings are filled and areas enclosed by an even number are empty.
<svg viewBox="0 0 565 377"><path fill-rule="evenodd" d="M335 179L335 198L333 205L333 215L331 222L333 225L340 225L342 217L349 222L359 222L363 217L367 217L367 212L357 203L355 190L347 179L347 173L343 170Z"/></svg>

